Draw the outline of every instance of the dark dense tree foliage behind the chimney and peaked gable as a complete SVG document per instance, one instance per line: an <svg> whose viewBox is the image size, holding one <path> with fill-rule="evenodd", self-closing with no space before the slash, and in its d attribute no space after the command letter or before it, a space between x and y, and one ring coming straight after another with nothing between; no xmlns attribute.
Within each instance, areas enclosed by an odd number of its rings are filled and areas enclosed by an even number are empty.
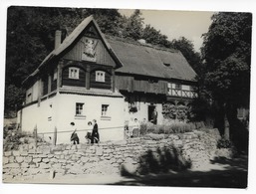
<svg viewBox="0 0 256 194"><path fill-rule="evenodd" d="M10 7L7 22L6 84L21 87L54 49L55 31L73 31L86 17L95 15L105 33L113 29L121 15L114 9L78 9L44 7ZM109 22L107 22L109 21Z"/></svg>

